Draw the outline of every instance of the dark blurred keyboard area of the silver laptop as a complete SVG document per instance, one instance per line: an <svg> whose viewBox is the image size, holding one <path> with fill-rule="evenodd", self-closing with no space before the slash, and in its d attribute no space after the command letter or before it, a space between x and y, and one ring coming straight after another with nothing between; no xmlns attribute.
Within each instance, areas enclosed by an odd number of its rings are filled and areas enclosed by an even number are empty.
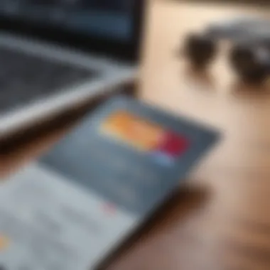
<svg viewBox="0 0 270 270"><path fill-rule="evenodd" d="M97 70L77 67L0 48L0 114L97 76Z"/></svg>

